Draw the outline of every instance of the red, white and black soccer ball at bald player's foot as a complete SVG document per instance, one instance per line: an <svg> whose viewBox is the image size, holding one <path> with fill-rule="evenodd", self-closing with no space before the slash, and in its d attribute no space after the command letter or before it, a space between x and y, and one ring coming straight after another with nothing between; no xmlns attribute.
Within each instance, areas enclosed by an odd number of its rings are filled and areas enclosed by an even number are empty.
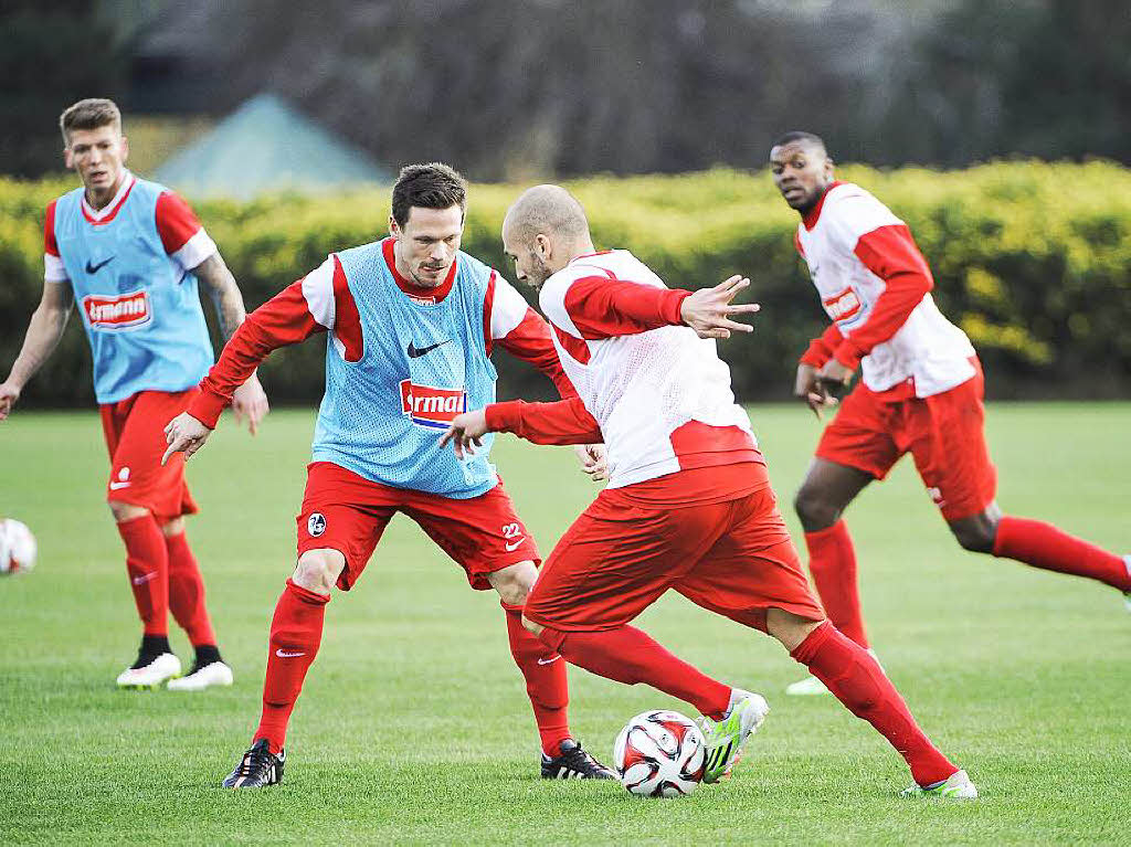
<svg viewBox="0 0 1131 847"><path fill-rule="evenodd" d="M613 745L613 767L630 793L641 797L691 794L703 778L707 742L677 711L645 711L632 718Z"/></svg>

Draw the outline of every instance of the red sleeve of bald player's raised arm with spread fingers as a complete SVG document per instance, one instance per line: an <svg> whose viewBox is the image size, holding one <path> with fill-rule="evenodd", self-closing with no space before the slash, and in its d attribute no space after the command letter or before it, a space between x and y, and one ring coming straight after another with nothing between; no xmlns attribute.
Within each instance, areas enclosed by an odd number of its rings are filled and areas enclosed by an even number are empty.
<svg viewBox="0 0 1131 847"><path fill-rule="evenodd" d="M606 276L575 279L564 296L566 313L587 340L683 326L680 306L691 292L658 288Z"/></svg>

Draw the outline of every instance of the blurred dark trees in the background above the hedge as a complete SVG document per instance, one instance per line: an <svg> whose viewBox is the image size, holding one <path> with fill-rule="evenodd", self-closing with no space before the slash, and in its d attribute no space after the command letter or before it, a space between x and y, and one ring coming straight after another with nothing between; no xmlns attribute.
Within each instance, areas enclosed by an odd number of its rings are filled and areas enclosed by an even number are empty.
<svg viewBox="0 0 1131 847"><path fill-rule="evenodd" d="M879 165L1131 162L1125 0L96 6L5 5L19 9L5 12L6 135L96 90L219 114L268 89L380 161L443 158L490 181L749 167L789 129ZM118 33L113 61L100 27ZM35 138L5 138L2 170L57 162L18 149Z"/></svg>

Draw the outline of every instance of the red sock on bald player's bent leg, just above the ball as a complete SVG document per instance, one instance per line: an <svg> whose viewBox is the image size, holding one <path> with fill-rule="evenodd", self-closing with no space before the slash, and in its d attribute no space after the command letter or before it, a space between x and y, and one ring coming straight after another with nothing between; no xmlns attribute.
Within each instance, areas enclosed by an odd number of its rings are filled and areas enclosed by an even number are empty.
<svg viewBox="0 0 1131 847"><path fill-rule="evenodd" d="M596 632L559 632L547 626L539 638L572 665L627 685L647 683L714 720L722 720L731 706L729 685L673 656L634 626Z"/></svg>

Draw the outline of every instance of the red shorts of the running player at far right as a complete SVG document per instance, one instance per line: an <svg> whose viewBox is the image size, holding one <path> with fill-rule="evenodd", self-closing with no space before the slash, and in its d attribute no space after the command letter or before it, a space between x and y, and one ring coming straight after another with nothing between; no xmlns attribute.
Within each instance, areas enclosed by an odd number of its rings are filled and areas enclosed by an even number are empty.
<svg viewBox="0 0 1131 847"><path fill-rule="evenodd" d="M882 479L910 452L927 493L949 521L979 515L993 502L998 470L985 441L985 380L972 379L933 397L884 403L856 386L824 430L817 456Z"/></svg>

